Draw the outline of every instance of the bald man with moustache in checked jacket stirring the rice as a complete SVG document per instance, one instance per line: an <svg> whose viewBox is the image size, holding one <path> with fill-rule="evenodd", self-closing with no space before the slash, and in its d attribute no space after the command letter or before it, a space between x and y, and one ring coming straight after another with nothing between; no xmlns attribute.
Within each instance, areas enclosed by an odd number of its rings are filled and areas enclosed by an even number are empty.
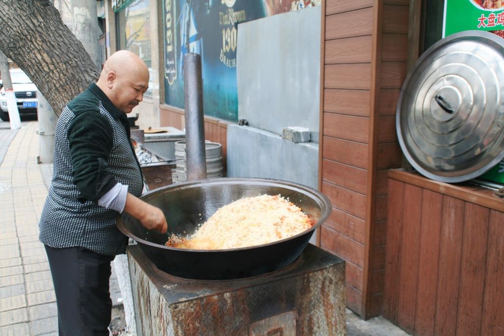
<svg viewBox="0 0 504 336"><path fill-rule="evenodd" d="M148 83L147 65L130 51L117 51L98 82L59 116L39 238L51 269L60 335L108 335L110 261L128 242L115 226L118 213L166 232L162 211L137 198L143 179L126 116Z"/></svg>

